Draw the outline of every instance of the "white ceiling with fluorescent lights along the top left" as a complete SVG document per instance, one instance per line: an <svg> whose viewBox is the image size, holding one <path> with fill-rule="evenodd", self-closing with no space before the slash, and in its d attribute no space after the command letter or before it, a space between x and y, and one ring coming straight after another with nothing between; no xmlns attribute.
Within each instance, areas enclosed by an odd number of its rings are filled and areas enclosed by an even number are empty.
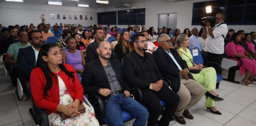
<svg viewBox="0 0 256 126"><path fill-rule="evenodd" d="M107 1L109 1L109 4L96 3L96 0L79 0L79 1L74 1L74 0L26 0L23 3L48 5L45 2L62 2L65 4L63 6L76 6L76 4L87 4L87 5L90 5L90 8L101 8L101 7L114 6L114 4L119 4L119 3L137 3L137 2L151 1L151 0L107 0ZM0 2L7 2L7 1L0 0ZM15 2L15 3L18 3L18 2Z"/></svg>

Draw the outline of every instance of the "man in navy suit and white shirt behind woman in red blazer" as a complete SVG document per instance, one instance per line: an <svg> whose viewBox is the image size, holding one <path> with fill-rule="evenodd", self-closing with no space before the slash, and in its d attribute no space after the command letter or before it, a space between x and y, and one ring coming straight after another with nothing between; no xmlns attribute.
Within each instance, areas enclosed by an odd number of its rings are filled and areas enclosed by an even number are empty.
<svg viewBox="0 0 256 126"><path fill-rule="evenodd" d="M17 57L18 69L26 79L29 79L31 70L35 68L39 50L44 45L41 31L31 31L28 41L31 46L19 49Z"/></svg>

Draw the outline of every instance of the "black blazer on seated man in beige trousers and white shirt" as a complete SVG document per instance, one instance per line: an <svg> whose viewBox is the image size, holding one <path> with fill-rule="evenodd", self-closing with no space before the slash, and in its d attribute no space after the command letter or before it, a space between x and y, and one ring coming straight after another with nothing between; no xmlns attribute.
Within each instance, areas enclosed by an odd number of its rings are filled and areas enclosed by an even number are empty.
<svg viewBox="0 0 256 126"><path fill-rule="evenodd" d="M182 69L188 68L186 61L184 61L175 49L170 49L173 57L179 63ZM180 90L181 79L179 76L179 68L173 62L172 58L163 50L160 46L153 53L154 59L158 68L160 69L163 77L170 79L172 83L172 90L178 92ZM189 79L193 79L193 76L188 74Z"/></svg>

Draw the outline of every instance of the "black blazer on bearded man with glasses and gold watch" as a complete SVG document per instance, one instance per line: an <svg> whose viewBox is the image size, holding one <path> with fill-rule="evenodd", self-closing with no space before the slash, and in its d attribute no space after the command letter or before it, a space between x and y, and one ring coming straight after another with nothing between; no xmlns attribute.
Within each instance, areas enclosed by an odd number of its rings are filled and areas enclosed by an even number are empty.
<svg viewBox="0 0 256 126"><path fill-rule="evenodd" d="M154 57L149 52L144 52L144 55L152 62L155 68L156 75L158 80L163 79L160 70L158 69ZM149 89L149 82L145 81L144 68L142 67L141 62L138 60L139 56L135 50L132 50L128 53L123 60L123 70L126 80L130 85L137 86L140 89Z"/></svg>

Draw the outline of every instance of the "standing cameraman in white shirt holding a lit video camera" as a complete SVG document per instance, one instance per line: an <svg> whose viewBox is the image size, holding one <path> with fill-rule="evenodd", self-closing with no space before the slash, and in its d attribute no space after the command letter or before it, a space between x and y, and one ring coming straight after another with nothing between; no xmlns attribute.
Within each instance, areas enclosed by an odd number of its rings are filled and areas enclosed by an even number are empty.
<svg viewBox="0 0 256 126"><path fill-rule="evenodd" d="M205 21L203 37L206 38L204 51L207 51L207 62L221 65L224 53L224 38L228 33L228 26L224 23L225 14L218 13L215 26L211 28L210 21Z"/></svg>

